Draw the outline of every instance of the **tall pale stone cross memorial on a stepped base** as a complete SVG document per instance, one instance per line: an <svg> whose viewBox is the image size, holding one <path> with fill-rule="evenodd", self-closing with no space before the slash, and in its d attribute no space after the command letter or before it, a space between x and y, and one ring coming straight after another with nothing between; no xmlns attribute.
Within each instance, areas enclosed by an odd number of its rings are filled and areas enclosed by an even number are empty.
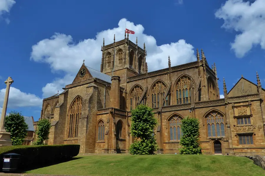
<svg viewBox="0 0 265 176"><path fill-rule="evenodd" d="M5 130L5 120L6 120L6 109L7 109L7 102L9 97L9 90L10 85L14 82L14 80L11 77L8 77L6 79L6 94L4 98L4 104L1 114L1 121L0 121L0 146L6 146L6 145L12 145L12 141L10 138L10 133L6 132Z"/></svg>

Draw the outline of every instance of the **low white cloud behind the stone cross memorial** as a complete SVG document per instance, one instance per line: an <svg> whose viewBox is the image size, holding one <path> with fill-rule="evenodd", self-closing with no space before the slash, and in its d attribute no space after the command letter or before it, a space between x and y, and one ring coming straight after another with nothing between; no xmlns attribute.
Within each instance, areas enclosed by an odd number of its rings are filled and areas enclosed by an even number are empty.
<svg viewBox="0 0 265 176"><path fill-rule="evenodd" d="M5 93L6 89L0 90L0 105L4 103ZM10 87L8 105L7 105L8 108L32 107L32 106L41 107L42 99L34 94L21 92L19 89Z"/></svg>

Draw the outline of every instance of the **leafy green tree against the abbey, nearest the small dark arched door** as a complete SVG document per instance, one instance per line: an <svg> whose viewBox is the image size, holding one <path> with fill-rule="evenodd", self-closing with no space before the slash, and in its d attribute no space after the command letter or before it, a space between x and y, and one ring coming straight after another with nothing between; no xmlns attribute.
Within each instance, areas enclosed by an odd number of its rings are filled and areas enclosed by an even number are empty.
<svg viewBox="0 0 265 176"><path fill-rule="evenodd" d="M194 117L186 116L181 121L181 130L183 132L180 138L180 154L201 155L200 122Z"/></svg>

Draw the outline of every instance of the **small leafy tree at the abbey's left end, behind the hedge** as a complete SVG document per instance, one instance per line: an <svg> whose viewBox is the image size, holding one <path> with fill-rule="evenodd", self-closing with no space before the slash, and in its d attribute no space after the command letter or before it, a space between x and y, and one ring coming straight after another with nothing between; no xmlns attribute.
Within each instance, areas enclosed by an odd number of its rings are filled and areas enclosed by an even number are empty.
<svg viewBox="0 0 265 176"><path fill-rule="evenodd" d="M45 145L44 141L49 139L49 133L51 128L51 123L49 119L41 119L37 123L37 140L34 142L34 145Z"/></svg>

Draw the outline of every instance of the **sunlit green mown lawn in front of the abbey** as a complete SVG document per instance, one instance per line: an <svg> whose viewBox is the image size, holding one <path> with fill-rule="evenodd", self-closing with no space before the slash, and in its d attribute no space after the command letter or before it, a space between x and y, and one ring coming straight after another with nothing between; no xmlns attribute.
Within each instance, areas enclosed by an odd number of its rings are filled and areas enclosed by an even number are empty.
<svg viewBox="0 0 265 176"><path fill-rule="evenodd" d="M26 173L91 176L265 176L245 157L213 155L88 155Z"/></svg>

